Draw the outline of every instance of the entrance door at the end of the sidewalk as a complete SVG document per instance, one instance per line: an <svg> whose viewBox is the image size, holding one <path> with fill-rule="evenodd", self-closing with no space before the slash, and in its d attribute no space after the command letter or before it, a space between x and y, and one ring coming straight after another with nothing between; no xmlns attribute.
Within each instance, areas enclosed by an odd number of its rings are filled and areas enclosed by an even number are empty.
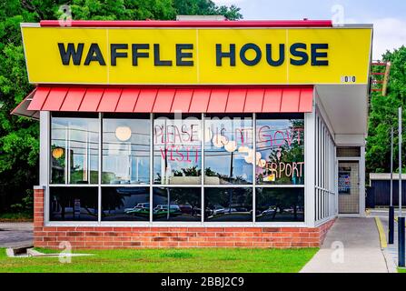
<svg viewBox="0 0 406 291"><path fill-rule="evenodd" d="M339 214L359 214L360 163L339 161L338 167Z"/></svg>

